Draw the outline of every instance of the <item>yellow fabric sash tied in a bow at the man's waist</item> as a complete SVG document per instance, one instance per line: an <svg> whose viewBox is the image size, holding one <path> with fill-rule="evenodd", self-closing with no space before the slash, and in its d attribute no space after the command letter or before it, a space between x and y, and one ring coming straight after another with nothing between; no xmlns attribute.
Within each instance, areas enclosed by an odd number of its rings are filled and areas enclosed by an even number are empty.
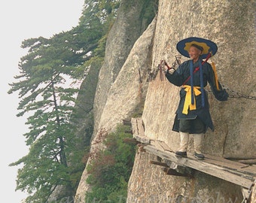
<svg viewBox="0 0 256 203"><path fill-rule="evenodd" d="M196 97L197 95L200 95L200 86L194 86L194 105L192 105L191 102L191 86L189 85L184 85L182 86L184 88L184 91L186 91L186 96L185 96L185 102L184 102L184 107L183 107L183 111L182 114L187 114L188 112L188 108L190 110L196 110L197 109L197 105L196 105Z"/></svg>

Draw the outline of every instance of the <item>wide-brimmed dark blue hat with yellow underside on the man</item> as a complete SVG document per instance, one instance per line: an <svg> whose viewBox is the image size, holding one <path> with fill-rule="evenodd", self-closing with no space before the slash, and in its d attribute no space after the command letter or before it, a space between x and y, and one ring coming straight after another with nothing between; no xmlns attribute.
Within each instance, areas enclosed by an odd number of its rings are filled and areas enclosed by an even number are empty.
<svg viewBox="0 0 256 203"><path fill-rule="evenodd" d="M195 47L199 46L203 48L202 55L200 56L202 59L206 59L209 53L215 55L215 53L218 50L217 45L213 41L209 41L204 38L185 38L184 40L181 40L176 45L176 48L179 53L181 53L182 56L186 56L190 58L188 54L188 50L191 47L192 44L196 44Z"/></svg>

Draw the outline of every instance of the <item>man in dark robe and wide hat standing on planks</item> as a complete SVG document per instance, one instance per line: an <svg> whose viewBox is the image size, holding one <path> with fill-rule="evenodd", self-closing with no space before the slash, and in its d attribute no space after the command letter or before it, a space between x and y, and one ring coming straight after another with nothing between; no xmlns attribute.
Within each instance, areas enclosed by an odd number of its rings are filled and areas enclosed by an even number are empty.
<svg viewBox="0 0 256 203"><path fill-rule="evenodd" d="M187 157L189 134L194 135L194 156L203 159L201 151L204 134L208 128L214 131L209 113L209 102L204 87L207 82L219 101L226 101L228 94L218 82L216 71L203 59L209 59L217 50L217 45L203 38L186 38L179 41L177 50L181 55L190 58L166 72L166 78L175 86L181 86L180 102L176 111L172 130L179 132L181 143L176 156Z"/></svg>

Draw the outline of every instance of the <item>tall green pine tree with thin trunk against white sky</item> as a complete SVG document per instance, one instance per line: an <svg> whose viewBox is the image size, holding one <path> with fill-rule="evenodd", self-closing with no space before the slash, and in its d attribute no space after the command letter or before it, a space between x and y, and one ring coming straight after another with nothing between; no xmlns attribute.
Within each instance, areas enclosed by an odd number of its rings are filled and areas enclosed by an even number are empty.
<svg viewBox="0 0 256 203"><path fill-rule="evenodd" d="M76 56L66 44L58 44L59 36L50 40L29 39L28 55L21 59L19 82L12 83L9 93L19 90L21 102L18 117L29 113L25 134L29 154L12 165L23 163L18 171L17 189L35 192L35 202L43 200L57 185L72 187L66 149L72 147L71 115L74 113L78 87L66 86L82 56ZM72 61L73 60L73 61Z"/></svg>

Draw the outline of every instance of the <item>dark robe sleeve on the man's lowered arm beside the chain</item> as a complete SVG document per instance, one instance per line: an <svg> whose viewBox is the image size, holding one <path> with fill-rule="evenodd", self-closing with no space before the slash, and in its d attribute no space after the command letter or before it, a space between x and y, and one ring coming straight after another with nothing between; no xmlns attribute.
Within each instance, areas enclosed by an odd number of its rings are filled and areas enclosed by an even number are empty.
<svg viewBox="0 0 256 203"><path fill-rule="evenodd" d="M215 80L215 73L212 69L212 65L210 65L208 63L208 66L209 66L209 77L207 78L207 80L209 82L209 85L211 86L213 95L215 95L215 98L218 101L227 101L227 98L228 98L227 91L222 88L221 83L219 83L219 82L218 82L219 90L217 89L216 82L215 82L216 81Z"/></svg>

